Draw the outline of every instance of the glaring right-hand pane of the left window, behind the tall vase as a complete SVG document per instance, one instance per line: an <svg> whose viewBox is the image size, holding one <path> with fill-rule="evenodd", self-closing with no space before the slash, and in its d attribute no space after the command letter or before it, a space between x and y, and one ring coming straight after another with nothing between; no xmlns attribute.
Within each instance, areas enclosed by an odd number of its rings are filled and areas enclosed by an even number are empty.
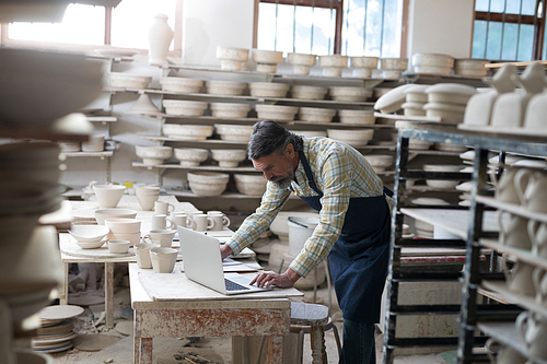
<svg viewBox="0 0 547 364"><path fill-rule="evenodd" d="M159 13L167 15L167 24L175 30L175 0L121 1L112 11L112 46L148 49L148 30Z"/></svg>

